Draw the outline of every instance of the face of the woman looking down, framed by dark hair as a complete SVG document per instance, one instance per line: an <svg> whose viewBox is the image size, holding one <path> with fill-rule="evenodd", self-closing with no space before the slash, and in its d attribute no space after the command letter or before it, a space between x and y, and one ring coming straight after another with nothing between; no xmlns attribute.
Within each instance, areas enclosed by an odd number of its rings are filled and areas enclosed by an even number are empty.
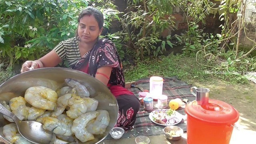
<svg viewBox="0 0 256 144"><path fill-rule="evenodd" d="M99 28L97 20L93 15L84 16L78 24L78 36L81 42L95 42L101 34L102 28Z"/></svg>

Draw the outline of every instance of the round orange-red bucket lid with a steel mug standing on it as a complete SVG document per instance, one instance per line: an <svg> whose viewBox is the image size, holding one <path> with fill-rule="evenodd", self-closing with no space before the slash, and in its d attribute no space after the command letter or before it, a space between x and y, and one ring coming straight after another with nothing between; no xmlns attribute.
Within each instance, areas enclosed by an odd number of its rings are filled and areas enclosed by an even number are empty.
<svg viewBox="0 0 256 144"><path fill-rule="evenodd" d="M185 112L198 120L215 124L234 124L239 118L239 113L233 106L212 99L206 105L199 105L194 100L186 106Z"/></svg>

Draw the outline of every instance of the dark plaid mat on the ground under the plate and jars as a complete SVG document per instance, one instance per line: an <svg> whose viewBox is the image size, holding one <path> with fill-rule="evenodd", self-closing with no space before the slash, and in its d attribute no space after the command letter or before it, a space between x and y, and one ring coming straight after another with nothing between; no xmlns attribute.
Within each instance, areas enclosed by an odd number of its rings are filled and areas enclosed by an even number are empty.
<svg viewBox="0 0 256 144"><path fill-rule="evenodd" d="M180 99L188 99L188 102L192 102L193 100L196 100L196 97L193 96L190 92L190 88L192 87L191 85L188 85L186 82L178 80L176 77L163 77L164 83L163 83L163 92L162 94L168 96L168 105L169 101L175 98L180 98ZM138 81L136 81L136 86L142 87L144 90L149 90L150 84L149 84L150 78L143 78ZM140 89L134 87L130 88L130 91L132 91L135 96L139 98L138 92L141 92ZM155 107L157 104L157 100L153 101L153 110L158 110L158 108ZM168 106L166 109L169 109L170 107ZM159 134L164 134L164 127L159 124L155 124L152 122L149 118L149 114L151 111L145 111L144 106L140 105L140 110L138 114L136 115L136 122L134 124L134 128L131 130L128 130L125 132L122 136L122 138L130 138L132 136L137 137L137 136L152 136L152 135L159 135ZM178 108L176 110L182 115L185 115L184 108ZM178 126L184 130L184 132L187 131L187 125L184 123L184 119L175 126ZM108 139L113 139L110 134L105 138L106 140Z"/></svg>

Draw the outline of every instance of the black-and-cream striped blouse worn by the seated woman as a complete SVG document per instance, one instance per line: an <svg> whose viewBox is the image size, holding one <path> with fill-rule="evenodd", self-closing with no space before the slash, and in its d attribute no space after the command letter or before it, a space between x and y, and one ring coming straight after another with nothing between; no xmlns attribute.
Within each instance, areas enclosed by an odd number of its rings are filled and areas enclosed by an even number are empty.
<svg viewBox="0 0 256 144"><path fill-rule="evenodd" d="M53 50L58 54L61 60L68 61L69 67L76 64L81 58L76 37L60 42Z"/></svg>

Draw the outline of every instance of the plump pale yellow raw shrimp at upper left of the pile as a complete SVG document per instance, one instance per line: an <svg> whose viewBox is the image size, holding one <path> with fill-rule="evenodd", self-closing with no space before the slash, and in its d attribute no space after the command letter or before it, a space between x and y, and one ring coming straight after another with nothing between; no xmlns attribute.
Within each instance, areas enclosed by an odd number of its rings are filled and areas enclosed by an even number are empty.
<svg viewBox="0 0 256 144"><path fill-rule="evenodd" d="M44 110L54 110L58 99L57 93L44 86L32 86L25 92L25 100L32 106Z"/></svg>

